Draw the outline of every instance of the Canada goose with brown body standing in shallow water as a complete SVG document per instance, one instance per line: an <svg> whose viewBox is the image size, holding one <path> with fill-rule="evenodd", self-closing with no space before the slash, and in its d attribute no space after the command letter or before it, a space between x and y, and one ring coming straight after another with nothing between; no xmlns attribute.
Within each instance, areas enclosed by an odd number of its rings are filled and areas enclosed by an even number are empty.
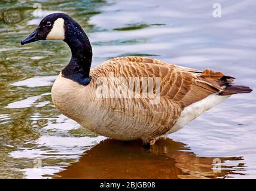
<svg viewBox="0 0 256 191"><path fill-rule="evenodd" d="M90 70L90 41L81 26L63 13L46 16L21 44L39 40L65 41L72 52L51 89L53 104L78 124L117 140L141 138L150 146L230 95L252 91L234 85L234 78L221 72L200 72L153 58L117 57ZM142 79L148 80L148 95Z"/></svg>

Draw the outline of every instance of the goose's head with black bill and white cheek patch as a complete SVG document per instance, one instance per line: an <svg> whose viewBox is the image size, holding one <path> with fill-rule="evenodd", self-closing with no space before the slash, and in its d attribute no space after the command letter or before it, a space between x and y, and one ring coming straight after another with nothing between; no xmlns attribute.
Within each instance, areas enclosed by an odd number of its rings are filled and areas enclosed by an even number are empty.
<svg viewBox="0 0 256 191"><path fill-rule="evenodd" d="M64 13L53 13L44 17L37 29L23 39L22 45L39 40L65 40L66 25L78 25L75 20ZM80 26L79 26L80 27Z"/></svg>

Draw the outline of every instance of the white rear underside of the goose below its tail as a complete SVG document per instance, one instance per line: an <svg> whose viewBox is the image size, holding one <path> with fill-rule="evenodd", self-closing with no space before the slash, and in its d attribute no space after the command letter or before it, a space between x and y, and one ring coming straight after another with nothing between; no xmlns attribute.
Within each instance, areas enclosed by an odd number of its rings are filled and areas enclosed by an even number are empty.
<svg viewBox="0 0 256 191"><path fill-rule="evenodd" d="M202 113L220 104L228 97L230 96L218 96L217 94L211 94L203 100L197 101L196 103L185 107L185 109L181 112L181 116L179 117L178 121L170 129L170 131L167 132L167 134L174 133L175 131L185 127L185 125L187 125L190 121L193 121L193 119L197 118Z"/></svg>

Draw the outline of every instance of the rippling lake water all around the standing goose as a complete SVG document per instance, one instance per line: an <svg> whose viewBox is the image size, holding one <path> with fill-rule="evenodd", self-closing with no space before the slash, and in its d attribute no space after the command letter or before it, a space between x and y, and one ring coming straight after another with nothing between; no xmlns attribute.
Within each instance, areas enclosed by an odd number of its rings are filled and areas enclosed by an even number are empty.
<svg viewBox="0 0 256 191"><path fill-rule="evenodd" d="M218 1L221 17L212 16L215 1L35 2L0 1L0 178L256 178L255 91L144 149L92 133L53 106L51 85L71 56L64 42L20 45L41 5L42 17L62 11L81 24L93 67L147 56L255 88L255 1Z"/></svg>

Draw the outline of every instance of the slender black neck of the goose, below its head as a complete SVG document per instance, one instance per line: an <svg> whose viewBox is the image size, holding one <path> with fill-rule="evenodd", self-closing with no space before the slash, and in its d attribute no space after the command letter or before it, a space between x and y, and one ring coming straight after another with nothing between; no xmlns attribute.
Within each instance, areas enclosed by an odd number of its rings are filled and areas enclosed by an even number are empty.
<svg viewBox="0 0 256 191"><path fill-rule="evenodd" d="M68 27L66 27L68 26ZM72 57L62 75L81 85L90 83L92 47L84 30L77 23L65 24L65 42L71 49Z"/></svg>

